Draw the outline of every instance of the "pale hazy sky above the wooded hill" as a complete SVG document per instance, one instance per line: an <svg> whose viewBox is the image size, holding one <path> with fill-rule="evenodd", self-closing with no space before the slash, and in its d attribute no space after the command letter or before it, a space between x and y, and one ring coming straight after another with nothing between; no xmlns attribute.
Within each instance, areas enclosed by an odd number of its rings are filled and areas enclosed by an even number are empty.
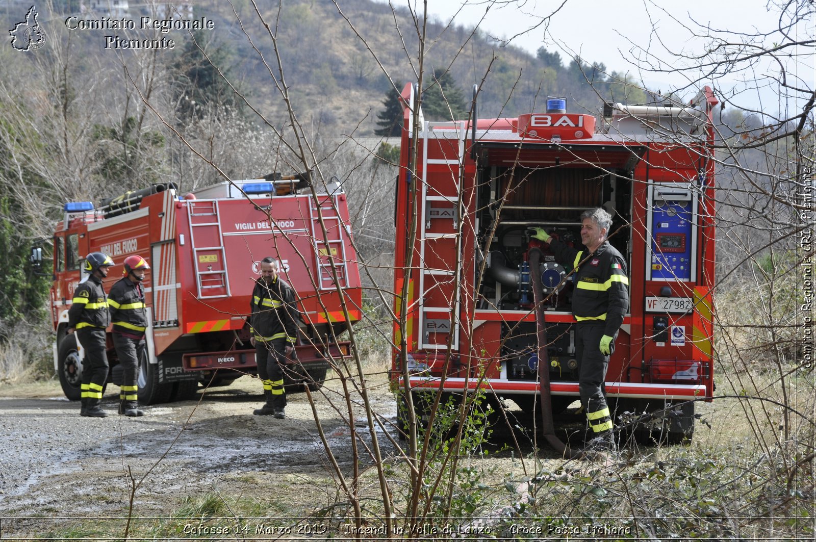
<svg viewBox="0 0 816 542"><path fill-rule="evenodd" d="M388 2L388 0L376 0ZM422 0L392 0L394 5L409 4L419 11L424 9ZM683 2L663 2L659 0L623 0L608 2L601 0L428 0L428 13L441 22L448 22L455 16L455 24L466 27L480 24L486 7L492 3L488 16L481 22L481 29L498 38L511 38L513 35L538 24L544 16L553 10L559 11L552 17L548 28L540 25L529 33L512 40L521 47L535 54L539 47L548 51L557 51L565 63L574 55L583 57L588 62L603 62L608 70L630 73L637 80L645 81L653 90L685 87L689 75L682 73L650 73L644 62L638 66L634 54L641 55L652 63L660 60L664 67L679 67L680 63L667 48L672 51L685 51L699 54L704 51L709 41L695 37L694 33L703 34L703 26L715 33L732 32L754 33L756 29L772 30L778 28L778 13L769 11L766 0L684 0ZM561 6L561 4L564 4ZM457 15L457 11L463 7ZM560 7L560 8L559 8ZM799 29L801 36L814 35L814 21ZM731 38L736 38L733 34ZM776 36L777 39L778 36ZM765 39L771 43L774 37ZM632 52L636 51L636 52ZM644 51L648 51L646 54ZM814 87L814 59L812 48L807 57L800 59L798 69L800 78ZM687 64L690 65L690 64ZM756 67L760 73L776 69L769 61ZM695 74L696 75L696 74ZM736 81L734 81L736 82ZM723 85L725 80L718 82ZM758 100L756 91L743 94L743 100ZM773 100L763 96L763 100ZM770 105L770 104L769 104Z"/></svg>

